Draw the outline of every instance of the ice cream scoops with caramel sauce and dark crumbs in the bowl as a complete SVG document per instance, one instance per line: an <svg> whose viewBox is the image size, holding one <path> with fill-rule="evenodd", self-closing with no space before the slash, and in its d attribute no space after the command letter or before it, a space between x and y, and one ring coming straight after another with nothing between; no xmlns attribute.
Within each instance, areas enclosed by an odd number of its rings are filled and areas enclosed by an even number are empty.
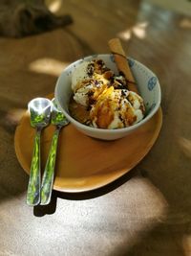
<svg viewBox="0 0 191 256"><path fill-rule="evenodd" d="M79 64L72 74L69 111L75 120L93 128L128 128L144 118L143 99L128 89L102 59Z"/></svg>

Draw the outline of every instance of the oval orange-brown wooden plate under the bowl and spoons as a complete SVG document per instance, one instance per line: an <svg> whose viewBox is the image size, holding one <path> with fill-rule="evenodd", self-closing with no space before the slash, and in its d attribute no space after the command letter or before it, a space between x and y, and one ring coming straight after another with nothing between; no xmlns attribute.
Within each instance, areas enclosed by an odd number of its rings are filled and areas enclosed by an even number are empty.
<svg viewBox="0 0 191 256"><path fill-rule="evenodd" d="M161 109L133 134L116 141L88 137L73 125L62 128L55 166L53 189L62 192L85 192L102 187L134 168L151 150L159 136ZM45 167L54 127L42 132L41 165ZM19 163L30 174L35 130L26 111L16 128L14 147Z"/></svg>

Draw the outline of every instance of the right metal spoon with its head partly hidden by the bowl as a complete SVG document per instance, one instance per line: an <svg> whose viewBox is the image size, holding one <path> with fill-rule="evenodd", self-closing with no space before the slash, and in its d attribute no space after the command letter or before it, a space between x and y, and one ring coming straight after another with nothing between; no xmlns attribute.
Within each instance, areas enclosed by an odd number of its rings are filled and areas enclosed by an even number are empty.
<svg viewBox="0 0 191 256"><path fill-rule="evenodd" d="M42 178L41 186L41 205L49 204L51 201L52 191L53 191L53 176L54 176L54 166L55 158L57 151L57 142L59 137L59 131L61 128L69 124L69 121L66 119L65 115L60 111L58 106L53 102L53 111L52 111L52 121L51 123L56 126L53 132L52 146L49 152L49 157L46 163L45 171Z"/></svg>

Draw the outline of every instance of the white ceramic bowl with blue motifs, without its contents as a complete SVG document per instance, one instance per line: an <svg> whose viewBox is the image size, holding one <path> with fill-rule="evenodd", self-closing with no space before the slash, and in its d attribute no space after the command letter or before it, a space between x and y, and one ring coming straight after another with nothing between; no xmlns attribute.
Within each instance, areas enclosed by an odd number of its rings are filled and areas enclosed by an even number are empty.
<svg viewBox="0 0 191 256"><path fill-rule="evenodd" d="M54 97L57 105L61 108L63 113L66 115L68 120L74 125L75 128L83 132L84 134L102 140L116 140L122 138L127 134L134 132L146 122L148 122L152 116L158 111L160 105L160 86L157 76L146 66L138 62L133 58L127 58L132 73L138 84L138 91L140 96L144 100L146 107L146 115L138 124L128 128L117 128L117 129L103 129L103 128L92 128L83 125L70 115L69 102L73 94L71 88L71 79L74 69L81 62L86 60L92 60L101 58L105 62L106 66L112 69L116 74L117 66L113 55L94 55L86 58L76 60L70 64L59 76L54 90Z"/></svg>

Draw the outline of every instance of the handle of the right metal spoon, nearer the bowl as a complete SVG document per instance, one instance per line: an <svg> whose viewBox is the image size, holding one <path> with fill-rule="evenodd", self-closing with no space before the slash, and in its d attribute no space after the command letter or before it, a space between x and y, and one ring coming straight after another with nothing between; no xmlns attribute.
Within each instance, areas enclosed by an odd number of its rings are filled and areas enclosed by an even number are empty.
<svg viewBox="0 0 191 256"><path fill-rule="evenodd" d="M55 166L59 131L60 131L60 128L57 127L53 133L52 145L51 145L49 157L47 159L45 171L42 178L41 202L40 202L41 205L49 204L51 201L51 196L53 191L54 166Z"/></svg>

